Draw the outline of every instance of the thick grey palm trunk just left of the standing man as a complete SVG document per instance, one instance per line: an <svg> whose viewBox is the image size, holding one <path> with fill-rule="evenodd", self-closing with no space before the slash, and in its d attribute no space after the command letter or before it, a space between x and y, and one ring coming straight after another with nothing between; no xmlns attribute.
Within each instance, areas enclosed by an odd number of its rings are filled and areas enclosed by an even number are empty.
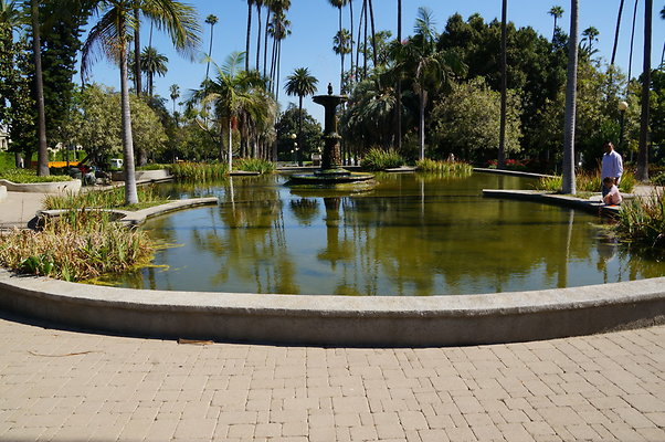
<svg viewBox="0 0 665 442"><path fill-rule="evenodd" d="M574 122L578 85L579 0L570 0L570 40L568 42L568 80L566 82L566 117L563 127L563 193L576 194Z"/></svg>

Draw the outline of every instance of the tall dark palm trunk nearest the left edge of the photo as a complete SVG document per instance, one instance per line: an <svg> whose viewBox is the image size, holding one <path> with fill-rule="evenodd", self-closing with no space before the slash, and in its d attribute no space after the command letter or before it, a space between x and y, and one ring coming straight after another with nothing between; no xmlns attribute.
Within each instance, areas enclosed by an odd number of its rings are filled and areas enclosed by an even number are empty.
<svg viewBox="0 0 665 442"><path fill-rule="evenodd" d="M44 110L44 82L42 76L42 49L40 41L40 10L39 1L30 1L30 14L32 18L32 53L34 60L34 87L36 92L36 122L38 122L38 169L36 175L48 177L49 172L49 148L46 144L46 112ZM30 158L28 158L30 161Z"/></svg>

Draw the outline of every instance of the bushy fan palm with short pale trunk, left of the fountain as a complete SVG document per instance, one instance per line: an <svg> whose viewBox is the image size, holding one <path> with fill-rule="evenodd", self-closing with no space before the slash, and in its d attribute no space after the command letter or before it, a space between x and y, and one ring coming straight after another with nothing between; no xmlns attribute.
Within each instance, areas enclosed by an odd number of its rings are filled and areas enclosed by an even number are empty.
<svg viewBox="0 0 665 442"><path fill-rule="evenodd" d="M274 107L270 103L272 98L265 91L265 78L258 71L241 69L244 57L244 52L234 52L229 55L224 65L218 67L217 78L203 82L202 87L194 91L191 98L192 103L201 103L203 106L212 105L220 123L220 130L225 123L229 170L233 167L233 128L240 118L265 120L268 118L271 108ZM222 154L220 151L220 156Z"/></svg>

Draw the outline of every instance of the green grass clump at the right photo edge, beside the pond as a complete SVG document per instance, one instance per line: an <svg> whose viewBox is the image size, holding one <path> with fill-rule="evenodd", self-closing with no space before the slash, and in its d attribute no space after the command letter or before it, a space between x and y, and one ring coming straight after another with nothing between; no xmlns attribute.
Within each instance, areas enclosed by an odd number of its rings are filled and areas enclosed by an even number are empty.
<svg viewBox="0 0 665 442"><path fill-rule="evenodd" d="M625 201L619 211L619 235L625 240L665 249L665 191Z"/></svg>

